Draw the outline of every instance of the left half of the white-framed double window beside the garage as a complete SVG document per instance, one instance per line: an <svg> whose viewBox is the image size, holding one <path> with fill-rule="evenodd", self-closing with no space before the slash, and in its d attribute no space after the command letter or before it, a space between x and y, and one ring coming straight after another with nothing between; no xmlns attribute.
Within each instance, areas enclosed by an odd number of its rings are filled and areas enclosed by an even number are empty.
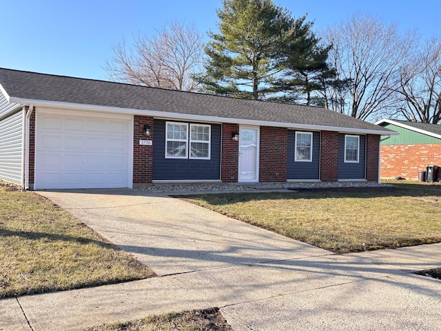
<svg viewBox="0 0 441 331"><path fill-rule="evenodd" d="M166 123L165 157L167 159L187 159L188 124Z"/></svg>

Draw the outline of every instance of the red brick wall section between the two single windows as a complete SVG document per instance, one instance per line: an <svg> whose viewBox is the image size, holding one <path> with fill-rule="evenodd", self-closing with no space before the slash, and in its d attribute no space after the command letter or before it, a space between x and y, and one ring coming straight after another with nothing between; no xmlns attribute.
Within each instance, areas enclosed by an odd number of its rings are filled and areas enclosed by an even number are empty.
<svg viewBox="0 0 441 331"><path fill-rule="evenodd" d="M338 181L338 132L322 131L320 141L320 180Z"/></svg>

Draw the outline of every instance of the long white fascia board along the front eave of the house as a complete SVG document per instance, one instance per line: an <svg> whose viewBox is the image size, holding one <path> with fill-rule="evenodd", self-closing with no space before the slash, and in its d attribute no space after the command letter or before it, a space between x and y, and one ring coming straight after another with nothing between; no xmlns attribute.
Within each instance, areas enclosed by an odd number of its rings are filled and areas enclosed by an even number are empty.
<svg viewBox="0 0 441 331"><path fill-rule="evenodd" d="M368 129L357 129L357 128L340 128L334 126L316 126L310 124L300 124L300 123L282 123L282 122L271 122L271 121L257 121L252 119L232 119L228 117L214 117L206 115L196 115L196 114L182 114L180 112L161 112L159 110L141 110L133 108L119 108L110 106L95 106L83 103L70 103L63 101L45 101L45 100L34 100L34 99L20 99L20 98L10 98L11 101L29 104L32 103L36 107L44 108L62 108L66 110L81 110L86 112L108 112L117 114L130 114L139 116L150 116L150 117L161 117L163 119L180 119L183 121L206 121L206 122L218 122L218 123L236 123L241 125L249 126L274 126L279 128L289 128L289 129L302 129L302 130L318 130L318 131L337 131L345 133L358 133L358 134L398 134L398 132L384 132L384 130L368 130Z"/></svg>

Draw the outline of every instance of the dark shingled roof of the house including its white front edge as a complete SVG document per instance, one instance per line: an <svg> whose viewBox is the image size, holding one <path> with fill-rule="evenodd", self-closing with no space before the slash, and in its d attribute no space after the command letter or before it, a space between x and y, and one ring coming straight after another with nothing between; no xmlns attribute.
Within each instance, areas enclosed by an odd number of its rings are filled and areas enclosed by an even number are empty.
<svg viewBox="0 0 441 331"><path fill-rule="evenodd" d="M394 134L387 128L322 107L254 101L211 94L149 88L125 83L81 79L0 68L0 87L8 101L35 106L99 106L114 112L291 128Z"/></svg>

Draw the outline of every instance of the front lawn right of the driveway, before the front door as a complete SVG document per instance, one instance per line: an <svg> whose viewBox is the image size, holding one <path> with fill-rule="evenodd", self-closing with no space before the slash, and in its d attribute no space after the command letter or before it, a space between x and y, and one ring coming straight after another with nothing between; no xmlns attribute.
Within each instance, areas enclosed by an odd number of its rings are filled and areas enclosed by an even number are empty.
<svg viewBox="0 0 441 331"><path fill-rule="evenodd" d="M441 185L181 197L332 252L441 242Z"/></svg>

